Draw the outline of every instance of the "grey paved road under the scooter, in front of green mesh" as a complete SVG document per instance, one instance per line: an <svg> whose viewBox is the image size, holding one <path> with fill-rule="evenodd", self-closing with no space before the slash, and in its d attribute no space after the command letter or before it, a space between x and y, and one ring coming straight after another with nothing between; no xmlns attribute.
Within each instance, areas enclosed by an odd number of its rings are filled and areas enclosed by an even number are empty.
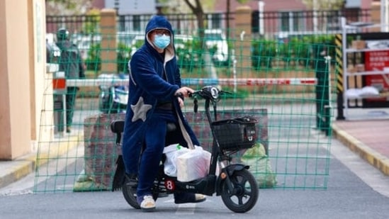
<svg viewBox="0 0 389 219"><path fill-rule="evenodd" d="M0 218L236 218L218 196L198 204L175 205L159 198L157 213L125 203L120 191L32 194L34 176L0 190ZM244 218L388 218L389 177L332 140L327 190L261 189Z"/></svg>

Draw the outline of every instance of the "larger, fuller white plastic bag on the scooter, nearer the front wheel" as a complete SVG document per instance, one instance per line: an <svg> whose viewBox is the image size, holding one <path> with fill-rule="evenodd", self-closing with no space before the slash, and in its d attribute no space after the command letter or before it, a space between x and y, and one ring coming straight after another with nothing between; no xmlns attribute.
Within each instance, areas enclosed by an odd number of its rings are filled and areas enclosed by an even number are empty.
<svg viewBox="0 0 389 219"><path fill-rule="evenodd" d="M194 150L177 157L177 180L193 181L206 176L209 172L210 152L195 146Z"/></svg>

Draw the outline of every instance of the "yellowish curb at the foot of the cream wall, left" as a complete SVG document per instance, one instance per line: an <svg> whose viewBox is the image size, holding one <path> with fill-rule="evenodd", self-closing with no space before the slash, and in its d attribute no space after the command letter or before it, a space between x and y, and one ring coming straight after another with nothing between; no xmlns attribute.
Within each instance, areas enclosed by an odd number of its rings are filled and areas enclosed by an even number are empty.
<svg viewBox="0 0 389 219"><path fill-rule="evenodd" d="M0 189L35 172L37 167L47 164L50 159L66 154L79 145L79 140L83 138L83 134L66 137L66 140L60 141L55 147L50 147L50 150L39 152L39 157L38 152L33 152L18 159L1 162L0 167L3 171L0 172Z"/></svg>

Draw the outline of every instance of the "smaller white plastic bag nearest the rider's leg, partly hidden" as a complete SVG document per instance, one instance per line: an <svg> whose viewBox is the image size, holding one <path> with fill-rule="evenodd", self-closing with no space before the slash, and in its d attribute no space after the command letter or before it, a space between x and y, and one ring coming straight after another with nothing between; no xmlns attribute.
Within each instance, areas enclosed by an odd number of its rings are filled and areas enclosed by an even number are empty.
<svg viewBox="0 0 389 219"><path fill-rule="evenodd" d="M166 160L164 162L164 173L168 176L177 176L177 157L188 152L189 149L182 147L179 144L169 145L164 147L164 154L166 155Z"/></svg>

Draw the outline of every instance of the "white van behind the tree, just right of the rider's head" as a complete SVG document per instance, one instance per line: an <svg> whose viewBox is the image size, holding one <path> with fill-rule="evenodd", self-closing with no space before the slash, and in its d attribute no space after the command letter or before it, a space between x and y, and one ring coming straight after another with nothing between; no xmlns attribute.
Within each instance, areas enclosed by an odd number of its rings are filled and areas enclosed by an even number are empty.
<svg viewBox="0 0 389 219"><path fill-rule="evenodd" d="M213 60L216 62L226 62L228 60L228 44L222 30L204 30L204 40L208 48L216 46L216 52L213 55Z"/></svg>

